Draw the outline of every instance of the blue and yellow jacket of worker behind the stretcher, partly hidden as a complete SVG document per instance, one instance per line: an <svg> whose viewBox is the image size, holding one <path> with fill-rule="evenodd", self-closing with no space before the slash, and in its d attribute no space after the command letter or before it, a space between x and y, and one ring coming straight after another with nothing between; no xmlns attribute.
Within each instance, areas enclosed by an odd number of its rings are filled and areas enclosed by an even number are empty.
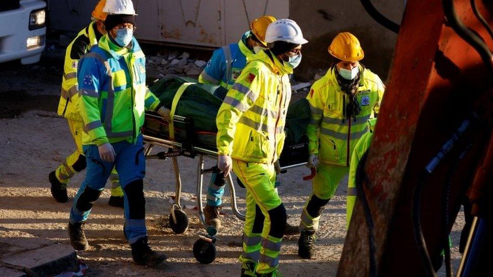
<svg viewBox="0 0 493 277"><path fill-rule="evenodd" d="M255 55L247 46L247 39L252 35L252 31L248 31L238 43L231 43L215 50L199 76L199 83L220 85L230 89L247 62Z"/></svg>

